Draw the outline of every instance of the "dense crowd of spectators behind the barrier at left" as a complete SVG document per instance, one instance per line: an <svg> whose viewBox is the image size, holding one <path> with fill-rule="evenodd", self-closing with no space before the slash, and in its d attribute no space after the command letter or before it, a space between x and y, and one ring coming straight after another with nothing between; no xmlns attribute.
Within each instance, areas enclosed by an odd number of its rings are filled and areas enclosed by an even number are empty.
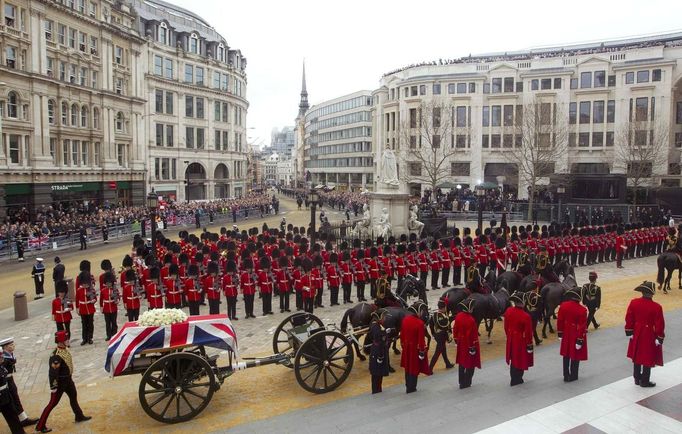
<svg viewBox="0 0 682 434"><path fill-rule="evenodd" d="M163 204L159 209L159 219L164 221L178 218L192 219L204 215L232 214L248 217L271 214L279 208L279 201L267 194L251 194L238 199L219 199L211 201L173 202ZM54 237L78 233L81 228L101 228L116 225L142 223L149 216L146 206L125 206L104 202L98 206L94 202L87 205L73 203L71 206L55 204L40 206L34 213L21 208L0 224L0 241L8 238L24 239Z"/></svg>

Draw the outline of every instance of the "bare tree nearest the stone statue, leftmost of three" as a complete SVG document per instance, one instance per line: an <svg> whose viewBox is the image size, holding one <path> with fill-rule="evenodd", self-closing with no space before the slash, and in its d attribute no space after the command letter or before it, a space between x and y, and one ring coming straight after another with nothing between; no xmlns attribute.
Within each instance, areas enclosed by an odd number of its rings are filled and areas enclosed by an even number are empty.
<svg viewBox="0 0 682 434"><path fill-rule="evenodd" d="M469 147L470 116L466 107L458 111L458 107L437 99L422 101L408 110L398 134L404 162L400 178L433 191L453 178L453 157Z"/></svg>

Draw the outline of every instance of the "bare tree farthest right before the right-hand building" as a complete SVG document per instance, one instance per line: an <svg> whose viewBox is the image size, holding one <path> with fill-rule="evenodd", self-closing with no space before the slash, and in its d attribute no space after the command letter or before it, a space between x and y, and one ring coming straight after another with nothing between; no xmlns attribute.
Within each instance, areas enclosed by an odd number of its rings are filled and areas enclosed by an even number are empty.
<svg viewBox="0 0 682 434"><path fill-rule="evenodd" d="M632 204L637 206L639 187L653 176L655 167L668 160L669 127L661 120L648 120L646 109L636 109L634 118L616 132L615 160L626 170L633 189Z"/></svg>

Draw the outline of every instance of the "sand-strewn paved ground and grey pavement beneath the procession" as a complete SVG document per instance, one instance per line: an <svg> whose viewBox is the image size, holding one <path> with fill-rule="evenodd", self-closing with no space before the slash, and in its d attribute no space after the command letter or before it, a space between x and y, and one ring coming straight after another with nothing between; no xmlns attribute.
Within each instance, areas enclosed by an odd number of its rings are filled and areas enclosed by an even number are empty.
<svg viewBox="0 0 682 434"><path fill-rule="evenodd" d="M309 211L295 210L295 204L287 199L283 199L282 203L284 216L288 221L298 225L306 223ZM281 216L271 216L266 221L270 225L277 225L280 219ZM242 222L240 228L254 225L260 227L262 222L261 219ZM87 257L93 261L93 270L97 270L102 258L110 257L117 265L128 250L128 244L110 245L92 249L92 252L88 250ZM77 269L78 262L83 258L78 251L61 256L65 258L67 270ZM29 268L30 264L5 267L0 277L0 294L5 302L15 290L12 282L21 281L21 289L28 290L29 294L32 292L32 281L27 271ZM577 268L579 284L587 281L590 270L597 271L604 291L602 309L597 314L603 327L596 332L590 331L590 361L581 369L581 380L577 383L565 385L560 381L561 359L554 344L555 337L550 335L537 349L536 367L527 374L529 381L522 387L511 390L508 387L508 369L500 358L504 351L504 336L502 324L498 323L493 333L493 344L482 348L483 370L476 373L474 387L464 393L456 390L456 370L446 371L442 362L437 365L434 376L420 379L417 394L404 394L402 370L398 368L396 374L386 379L385 392L374 397L369 395L367 363L357 359L346 383L325 395L305 392L298 386L289 369L268 366L238 372L228 378L204 413L189 423L173 427L165 427L152 421L142 411L137 400L139 376L110 379L104 371L107 343L104 341L103 316L100 313L95 315L94 345L80 346L80 320L76 315L72 323L72 351L76 365L74 378L79 386L83 408L86 413L94 416L91 422L79 425L77 432L225 432L228 429L230 432L401 432L421 428L452 432L453 426L457 426L458 431L471 432L521 417L522 419L514 422L516 429L518 424L523 425L528 420L524 417L530 417L529 414L533 412L606 387L629 375L631 365L624 355L626 340L622 332L624 311L628 301L638 295L632 289L644 279L655 278L655 257L626 261L622 270L617 270L614 263ZM14 336L17 341L19 373L16 381L24 404L32 415L38 414L49 394L47 358L54 346L54 322L50 316L51 289L48 284L49 297L30 301L30 318L26 321L15 322L11 308L0 311L2 335ZM436 305L441 294L441 290L427 293L431 307ZM678 329L682 323L682 310L679 310L682 309L682 291L675 289L669 295L657 295L656 299L668 312L668 329ZM315 313L328 324L339 324L344 310L350 306L329 307L326 290L324 304L327 307L318 309ZM221 307L224 311L225 304ZM261 312L258 300L255 312ZM237 316L240 320L234 325L240 339L240 354L259 356L272 353L272 334L286 315L276 313L245 320L243 303L240 300ZM124 322L121 311L118 322L119 326ZM682 357L680 344L682 338L670 333L665 344L666 360ZM453 358L454 345L450 345L449 351ZM399 365L399 356L393 356L392 364L396 367ZM654 381L658 381L662 387L654 389L652 393L663 392L667 385L671 384L672 388L677 384L677 377L668 378L668 371L667 368L654 370ZM623 407L625 405L623 403ZM550 414L554 409L544 411L541 414ZM55 411L49 426L59 432L73 432L75 427L69 412L68 404L64 402ZM128 417L121 420L120 414ZM300 426L302 417L306 420L304 427ZM606 413L595 414L594 417L606 417ZM513 432L514 429L510 431Z"/></svg>

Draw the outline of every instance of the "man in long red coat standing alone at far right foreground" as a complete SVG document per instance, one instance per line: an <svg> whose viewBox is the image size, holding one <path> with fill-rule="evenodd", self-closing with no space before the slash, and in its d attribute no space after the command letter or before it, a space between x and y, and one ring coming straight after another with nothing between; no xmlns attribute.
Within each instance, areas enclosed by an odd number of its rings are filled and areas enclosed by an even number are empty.
<svg viewBox="0 0 682 434"><path fill-rule="evenodd" d="M625 314L625 335L630 336L628 357L634 364L635 384L654 387L656 383L651 382L651 368L663 366L663 308L652 299L656 293L653 282L643 282L635 291L640 291L642 297L630 301Z"/></svg>

